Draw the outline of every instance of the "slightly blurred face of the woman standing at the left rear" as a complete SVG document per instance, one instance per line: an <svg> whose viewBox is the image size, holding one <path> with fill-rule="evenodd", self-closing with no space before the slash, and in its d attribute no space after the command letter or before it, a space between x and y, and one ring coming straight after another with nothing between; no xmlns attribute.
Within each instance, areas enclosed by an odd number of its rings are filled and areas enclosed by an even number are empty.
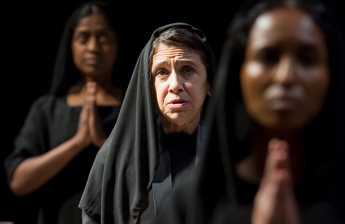
<svg viewBox="0 0 345 224"><path fill-rule="evenodd" d="M85 75L112 72L117 58L116 33L104 16L93 14L82 18L71 43L75 66Z"/></svg>

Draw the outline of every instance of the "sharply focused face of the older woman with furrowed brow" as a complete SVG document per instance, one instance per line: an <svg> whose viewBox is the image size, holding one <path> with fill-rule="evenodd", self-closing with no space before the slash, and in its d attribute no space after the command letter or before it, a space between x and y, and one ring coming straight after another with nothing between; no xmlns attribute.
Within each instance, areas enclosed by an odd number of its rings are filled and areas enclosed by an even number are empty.
<svg viewBox="0 0 345 224"><path fill-rule="evenodd" d="M199 121L209 85L198 53L183 45L159 46L152 60L152 80L164 119L178 126Z"/></svg>

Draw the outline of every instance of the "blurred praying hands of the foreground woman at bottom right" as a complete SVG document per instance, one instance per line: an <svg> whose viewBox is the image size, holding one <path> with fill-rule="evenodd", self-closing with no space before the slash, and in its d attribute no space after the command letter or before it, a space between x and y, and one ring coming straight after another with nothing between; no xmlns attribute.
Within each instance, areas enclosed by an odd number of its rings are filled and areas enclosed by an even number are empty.
<svg viewBox="0 0 345 224"><path fill-rule="evenodd" d="M271 139L263 178L253 202L252 224L300 224L286 141Z"/></svg>

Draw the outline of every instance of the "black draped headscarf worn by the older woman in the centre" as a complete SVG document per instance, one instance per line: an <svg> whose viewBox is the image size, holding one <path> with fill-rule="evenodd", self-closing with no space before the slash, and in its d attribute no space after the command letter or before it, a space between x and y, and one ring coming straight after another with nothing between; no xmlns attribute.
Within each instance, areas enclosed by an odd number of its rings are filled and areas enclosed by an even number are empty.
<svg viewBox="0 0 345 224"><path fill-rule="evenodd" d="M186 29L201 40L208 81L212 82L216 61L200 30L176 23L153 32L139 56L116 125L96 157L79 204L98 223L135 223L152 183L159 162L159 110L150 85L149 56L153 41L172 27Z"/></svg>

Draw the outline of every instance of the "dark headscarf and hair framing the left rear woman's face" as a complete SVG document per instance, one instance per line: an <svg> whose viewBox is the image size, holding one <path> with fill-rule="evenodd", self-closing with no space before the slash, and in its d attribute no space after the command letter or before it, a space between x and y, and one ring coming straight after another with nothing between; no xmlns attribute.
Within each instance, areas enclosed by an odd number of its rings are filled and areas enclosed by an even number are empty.
<svg viewBox="0 0 345 224"><path fill-rule="evenodd" d="M70 15L67 24L65 26L64 32L61 36L59 49L54 65L52 84L50 88L50 93L55 95L64 95L67 93L69 87L76 84L79 78L79 71L75 67L72 59L71 52L71 41L73 37L74 30L78 25L79 21L92 14L103 15L107 19L109 25L117 33L117 40L122 42L122 38L119 36L119 26L115 23L114 13L110 12L108 5L102 1L88 1L80 4ZM120 67L120 60L122 54L122 44L119 44L119 58L116 60L113 68L112 82L117 86L126 87L126 76ZM119 71L121 70L121 71Z"/></svg>

